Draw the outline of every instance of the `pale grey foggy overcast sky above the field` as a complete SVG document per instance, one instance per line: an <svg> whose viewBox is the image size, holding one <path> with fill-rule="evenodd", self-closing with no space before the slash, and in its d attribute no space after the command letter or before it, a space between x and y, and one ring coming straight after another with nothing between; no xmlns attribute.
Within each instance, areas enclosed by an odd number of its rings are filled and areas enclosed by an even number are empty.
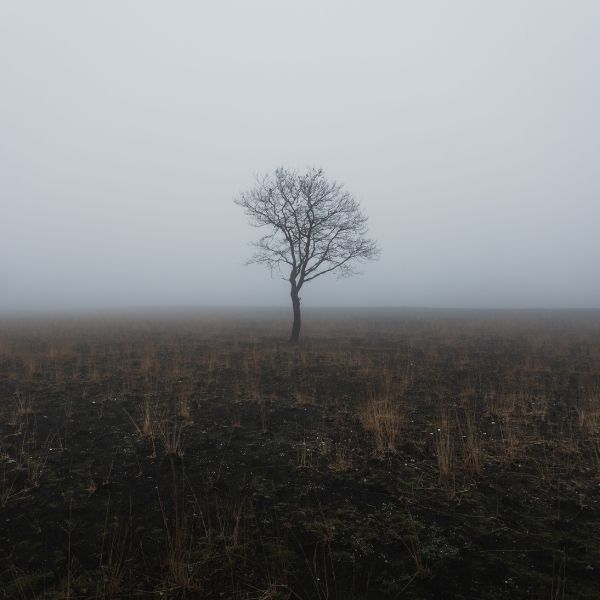
<svg viewBox="0 0 600 600"><path fill-rule="evenodd" d="M0 1L0 310L284 305L233 198L381 246L303 304L600 306L600 2Z"/></svg>

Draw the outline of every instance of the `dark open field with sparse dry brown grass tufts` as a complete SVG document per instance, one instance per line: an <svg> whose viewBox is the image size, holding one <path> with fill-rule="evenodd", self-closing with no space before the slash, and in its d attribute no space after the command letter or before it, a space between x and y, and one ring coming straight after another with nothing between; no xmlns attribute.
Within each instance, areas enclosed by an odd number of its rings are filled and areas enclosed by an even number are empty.
<svg viewBox="0 0 600 600"><path fill-rule="evenodd" d="M600 595L600 312L0 322L0 598Z"/></svg>

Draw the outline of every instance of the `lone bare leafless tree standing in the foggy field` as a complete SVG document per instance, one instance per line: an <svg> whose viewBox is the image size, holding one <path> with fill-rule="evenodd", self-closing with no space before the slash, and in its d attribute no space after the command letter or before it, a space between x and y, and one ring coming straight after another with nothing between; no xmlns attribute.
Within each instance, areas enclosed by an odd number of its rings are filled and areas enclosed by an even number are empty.
<svg viewBox="0 0 600 600"><path fill-rule="evenodd" d="M252 244L256 252L248 264L265 264L290 282L293 343L300 337L304 284L326 273L354 275L357 262L379 255L377 244L366 237L367 217L359 203L322 169L301 175L276 169L257 177L256 185L235 203L244 208L252 226L269 228Z"/></svg>

